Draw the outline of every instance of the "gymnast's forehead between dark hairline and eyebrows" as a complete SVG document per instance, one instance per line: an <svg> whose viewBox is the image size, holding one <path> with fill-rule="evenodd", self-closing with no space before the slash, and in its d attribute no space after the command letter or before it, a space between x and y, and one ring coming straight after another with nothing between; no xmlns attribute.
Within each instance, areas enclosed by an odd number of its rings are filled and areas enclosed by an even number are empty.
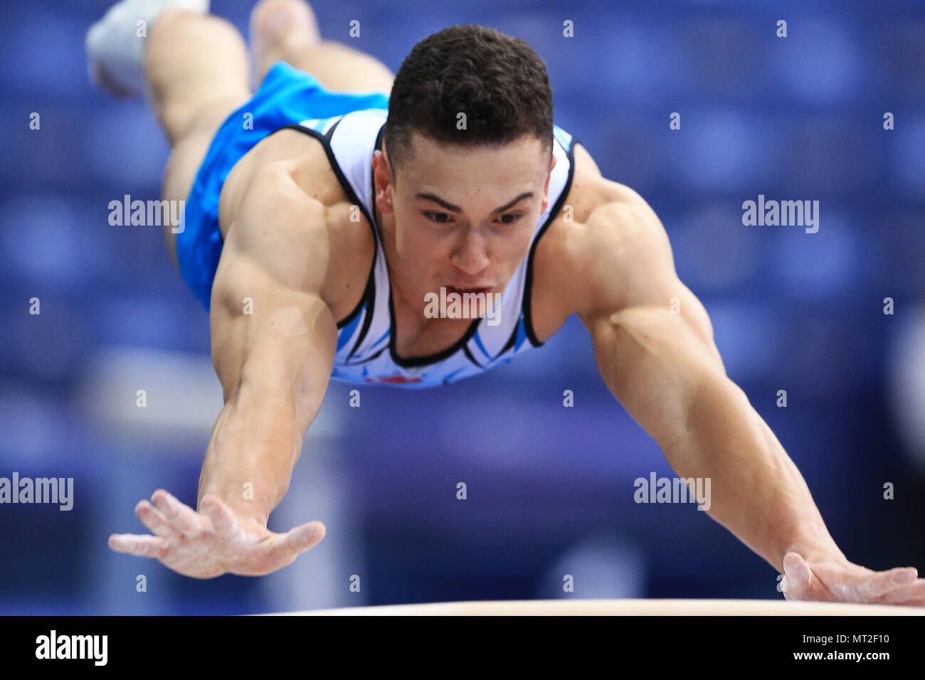
<svg viewBox="0 0 925 680"><path fill-rule="evenodd" d="M493 145L436 142L413 132L411 154L399 172L414 192L478 190L490 195L509 193L546 181L549 151L536 137L524 136Z"/></svg>

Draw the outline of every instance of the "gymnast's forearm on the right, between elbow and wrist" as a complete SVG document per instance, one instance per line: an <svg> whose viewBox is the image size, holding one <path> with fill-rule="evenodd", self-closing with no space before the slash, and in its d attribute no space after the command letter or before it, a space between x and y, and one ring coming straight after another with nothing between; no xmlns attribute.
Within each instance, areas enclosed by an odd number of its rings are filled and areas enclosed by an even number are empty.
<svg viewBox="0 0 925 680"><path fill-rule="evenodd" d="M783 556L842 560L806 481L745 393L724 376L688 401L684 436L665 447L680 476L709 477L709 515L783 573Z"/></svg>

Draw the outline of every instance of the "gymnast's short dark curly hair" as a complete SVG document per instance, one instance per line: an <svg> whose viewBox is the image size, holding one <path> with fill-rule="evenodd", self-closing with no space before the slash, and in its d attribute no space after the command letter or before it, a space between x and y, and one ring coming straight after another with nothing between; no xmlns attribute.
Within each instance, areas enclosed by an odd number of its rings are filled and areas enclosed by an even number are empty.
<svg viewBox="0 0 925 680"><path fill-rule="evenodd" d="M552 128L543 60L520 38L467 24L427 36L405 57L389 94L385 143L397 169L411 155L413 131L435 142L491 146L529 135L551 154Z"/></svg>

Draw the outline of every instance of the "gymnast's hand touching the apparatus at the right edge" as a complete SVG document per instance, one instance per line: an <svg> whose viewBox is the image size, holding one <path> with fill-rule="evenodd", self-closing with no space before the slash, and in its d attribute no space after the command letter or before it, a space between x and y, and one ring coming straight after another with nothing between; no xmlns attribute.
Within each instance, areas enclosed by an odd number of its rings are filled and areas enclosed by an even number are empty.
<svg viewBox="0 0 925 680"><path fill-rule="evenodd" d="M783 597L864 604L925 606L925 578L915 567L875 572L843 561L808 563L797 552L783 556Z"/></svg>

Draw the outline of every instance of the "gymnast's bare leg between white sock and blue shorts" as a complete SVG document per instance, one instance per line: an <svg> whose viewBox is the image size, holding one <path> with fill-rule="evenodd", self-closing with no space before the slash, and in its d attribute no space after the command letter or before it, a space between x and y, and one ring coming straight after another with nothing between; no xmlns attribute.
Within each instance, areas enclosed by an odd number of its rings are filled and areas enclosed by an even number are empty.
<svg viewBox="0 0 925 680"><path fill-rule="evenodd" d="M240 33L224 19L166 10L144 54L150 101L170 141L163 198L184 201L218 126L250 96L250 64ZM177 262L174 234L164 229Z"/></svg>

